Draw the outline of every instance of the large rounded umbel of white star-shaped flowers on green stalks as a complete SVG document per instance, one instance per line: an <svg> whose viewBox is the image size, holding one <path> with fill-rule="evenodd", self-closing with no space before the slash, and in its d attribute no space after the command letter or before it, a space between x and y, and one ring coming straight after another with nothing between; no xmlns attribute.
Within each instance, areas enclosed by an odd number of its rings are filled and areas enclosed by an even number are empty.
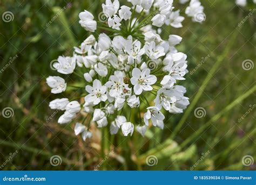
<svg viewBox="0 0 256 185"><path fill-rule="evenodd" d="M125 136L132 135L135 127L144 136L150 124L164 128L163 110L183 113L189 104L186 88L177 85L187 73L187 56L176 49L182 38L160 36L164 26L182 27L184 17L174 10L172 0L128 2L132 7L106 0L98 21L87 10L79 13L85 30L104 32L87 37L72 57L58 57L53 67L63 78L46 79L54 94L66 90L64 75L74 73L85 84L80 87L83 101L60 98L50 102L50 108L65 111L58 123L77 122L75 134L84 140L92 136L91 122L98 128L109 126L111 134L120 129ZM194 15L202 12L203 6L195 0L186 9L194 21L198 20ZM138 119L131 121L132 114Z"/></svg>

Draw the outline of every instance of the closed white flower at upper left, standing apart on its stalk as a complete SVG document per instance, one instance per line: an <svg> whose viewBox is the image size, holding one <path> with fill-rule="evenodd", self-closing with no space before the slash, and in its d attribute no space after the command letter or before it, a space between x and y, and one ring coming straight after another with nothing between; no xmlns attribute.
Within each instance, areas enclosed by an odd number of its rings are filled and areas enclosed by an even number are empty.
<svg viewBox="0 0 256 185"><path fill-rule="evenodd" d="M89 12L84 10L83 12L79 13L79 24L87 31L95 32L97 29L97 22L94 19L93 15Z"/></svg>

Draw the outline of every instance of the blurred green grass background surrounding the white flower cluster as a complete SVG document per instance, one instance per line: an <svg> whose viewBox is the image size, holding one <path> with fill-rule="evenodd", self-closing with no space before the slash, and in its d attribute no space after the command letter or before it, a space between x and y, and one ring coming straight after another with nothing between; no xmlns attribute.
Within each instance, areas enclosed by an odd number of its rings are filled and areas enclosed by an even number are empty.
<svg viewBox="0 0 256 185"><path fill-rule="evenodd" d="M193 102L187 112L167 115L164 131L151 128L144 139L138 133L132 138L110 136L105 130L101 143L102 133L95 127L92 140L83 142L73 133L73 124L58 125L61 113L45 121L53 113L49 102L57 98L50 94L45 78L57 75L50 69L50 61L72 54L73 46L89 35L80 27L78 13L87 9L97 19L102 1L2 1L1 15L11 11L15 17L10 23L0 21L0 67L18 55L0 73L1 112L4 107L14 109L12 118L0 117L0 165L18 150L2 169L91 170L113 151L99 169L190 170L208 150L210 154L195 170L255 169L255 165L242 165L245 155L256 160L255 109L238 122L250 105L256 104L255 67L250 71L242 68L242 61L255 60L255 16L237 27L248 9L255 7L241 9L234 1L202 2L206 13L203 24L186 18L184 28L166 27L163 31L164 38L170 34L184 38L178 49L187 53L189 71L210 55L180 83L187 87L186 95ZM46 26L64 6L65 11ZM174 6L185 11L177 2ZM75 78L71 76L69 83ZM75 96L72 91L65 95ZM197 107L205 108L205 117L194 116ZM134 112L132 119L136 117ZM52 155L62 157L62 164L51 166ZM157 165L145 164L149 155L157 156Z"/></svg>

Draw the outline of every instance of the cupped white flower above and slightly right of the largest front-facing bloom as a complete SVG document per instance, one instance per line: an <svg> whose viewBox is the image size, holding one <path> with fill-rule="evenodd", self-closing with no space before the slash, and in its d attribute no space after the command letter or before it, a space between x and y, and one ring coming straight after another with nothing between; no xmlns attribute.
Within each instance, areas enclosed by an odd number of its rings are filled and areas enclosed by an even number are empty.
<svg viewBox="0 0 256 185"><path fill-rule="evenodd" d="M162 46L156 46L155 42L150 42L149 45L144 46L144 50L146 55L151 59L151 60L156 60L159 57L165 56L164 52L164 47Z"/></svg>

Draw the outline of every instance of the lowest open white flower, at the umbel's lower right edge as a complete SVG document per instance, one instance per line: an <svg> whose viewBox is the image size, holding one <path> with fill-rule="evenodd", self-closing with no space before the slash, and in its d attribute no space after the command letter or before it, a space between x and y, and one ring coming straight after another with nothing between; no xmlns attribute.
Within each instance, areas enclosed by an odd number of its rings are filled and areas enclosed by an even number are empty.
<svg viewBox="0 0 256 185"><path fill-rule="evenodd" d="M149 126L150 119L153 126L157 126L157 121L163 121L165 117L164 114L160 112L158 107L148 107L147 112L144 113L144 122L146 126Z"/></svg>

